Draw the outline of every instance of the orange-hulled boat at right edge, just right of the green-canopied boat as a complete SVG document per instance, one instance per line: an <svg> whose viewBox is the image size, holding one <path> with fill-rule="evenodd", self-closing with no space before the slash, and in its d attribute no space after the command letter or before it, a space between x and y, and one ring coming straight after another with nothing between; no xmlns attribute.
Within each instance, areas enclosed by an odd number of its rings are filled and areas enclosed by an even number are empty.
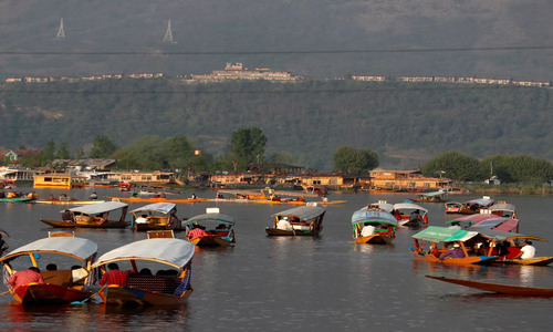
<svg viewBox="0 0 553 332"><path fill-rule="evenodd" d="M488 240L487 242L482 241L482 243L486 243L486 247L481 248L481 250L483 250L487 255L500 256L495 261L497 263L517 266L547 266L553 262L553 257L534 257L525 259L518 258L521 252L520 249L522 248L522 240L546 242L547 240L543 238L495 229L481 229L479 230L479 232L480 236Z"/></svg>

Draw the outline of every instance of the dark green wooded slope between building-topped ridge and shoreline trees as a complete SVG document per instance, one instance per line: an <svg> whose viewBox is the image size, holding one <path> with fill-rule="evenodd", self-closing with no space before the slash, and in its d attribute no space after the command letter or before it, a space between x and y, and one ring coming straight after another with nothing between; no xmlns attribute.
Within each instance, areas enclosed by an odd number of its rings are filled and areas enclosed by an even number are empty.
<svg viewBox="0 0 553 332"><path fill-rule="evenodd" d="M213 155L233 131L257 126L267 155L330 170L344 145L371 148L384 167L417 167L447 151L474 157L553 159L551 89L437 83L300 83L109 80L0 86L2 146L72 149L97 134L125 146L145 135L186 135Z"/></svg>

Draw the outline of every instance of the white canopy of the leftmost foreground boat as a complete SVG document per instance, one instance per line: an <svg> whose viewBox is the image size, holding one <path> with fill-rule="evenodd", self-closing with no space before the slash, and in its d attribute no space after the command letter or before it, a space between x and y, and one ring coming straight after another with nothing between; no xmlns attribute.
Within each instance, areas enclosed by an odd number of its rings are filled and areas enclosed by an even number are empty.
<svg viewBox="0 0 553 332"><path fill-rule="evenodd" d="M3 256L0 261L14 258L17 256L29 253L51 252L74 257L80 260L86 260L98 250L98 245L95 242L74 237L54 237L36 240L34 242L19 247L8 255Z"/></svg>

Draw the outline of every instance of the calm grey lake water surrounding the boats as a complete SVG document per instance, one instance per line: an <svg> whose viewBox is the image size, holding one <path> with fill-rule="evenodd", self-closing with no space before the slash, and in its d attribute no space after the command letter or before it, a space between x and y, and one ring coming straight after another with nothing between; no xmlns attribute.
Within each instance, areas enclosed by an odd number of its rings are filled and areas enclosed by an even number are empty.
<svg viewBox="0 0 553 332"><path fill-rule="evenodd" d="M32 188L20 188L30 191ZM94 189L121 196L116 189ZM72 190L86 198L93 189ZM38 190L41 197L58 189ZM197 190L199 197L215 191ZM189 197L191 191L186 193ZM416 262L408 248L417 230L398 229L390 246L354 245L351 216L361 207L409 195L336 194L347 203L327 207L319 238L265 236L270 216L286 205L201 203L178 205L179 217L218 206L237 218L233 248L198 250L192 262L194 293L186 305L125 309L97 302L24 309L10 294L0 297L2 331L549 331L553 299L498 295L431 280L425 274L553 288L550 267L450 267ZM480 195L450 196L465 201ZM518 208L520 232L553 239L549 210L553 198L494 196ZM131 208L144 204L132 204ZM426 204L429 224L442 226L444 204ZM60 219L60 206L0 205L0 228L11 249L48 236L40 218ZM129 219L129 217L127 217ZM125 230L77 230L98 243L98 255L146 238ZM180 235L184 236L184 235ZM179 237L179 234L177 234ZM550 242L534 242L539 256L553 256ZM6 291L6 287L1 287Z"/></svg>

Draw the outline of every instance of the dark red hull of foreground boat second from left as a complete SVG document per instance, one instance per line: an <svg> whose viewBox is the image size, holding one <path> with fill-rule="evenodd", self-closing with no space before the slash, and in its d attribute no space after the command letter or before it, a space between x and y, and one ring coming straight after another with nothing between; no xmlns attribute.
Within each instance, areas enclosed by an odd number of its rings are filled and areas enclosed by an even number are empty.
<svg viewBox="0 0 553 332"><path fill-rule="evenodd" d="M109 286L100 297L105 304L116 305L174 305L186 303L192 292L187 290L182 295L165 294L133 287Z"/></svg>

